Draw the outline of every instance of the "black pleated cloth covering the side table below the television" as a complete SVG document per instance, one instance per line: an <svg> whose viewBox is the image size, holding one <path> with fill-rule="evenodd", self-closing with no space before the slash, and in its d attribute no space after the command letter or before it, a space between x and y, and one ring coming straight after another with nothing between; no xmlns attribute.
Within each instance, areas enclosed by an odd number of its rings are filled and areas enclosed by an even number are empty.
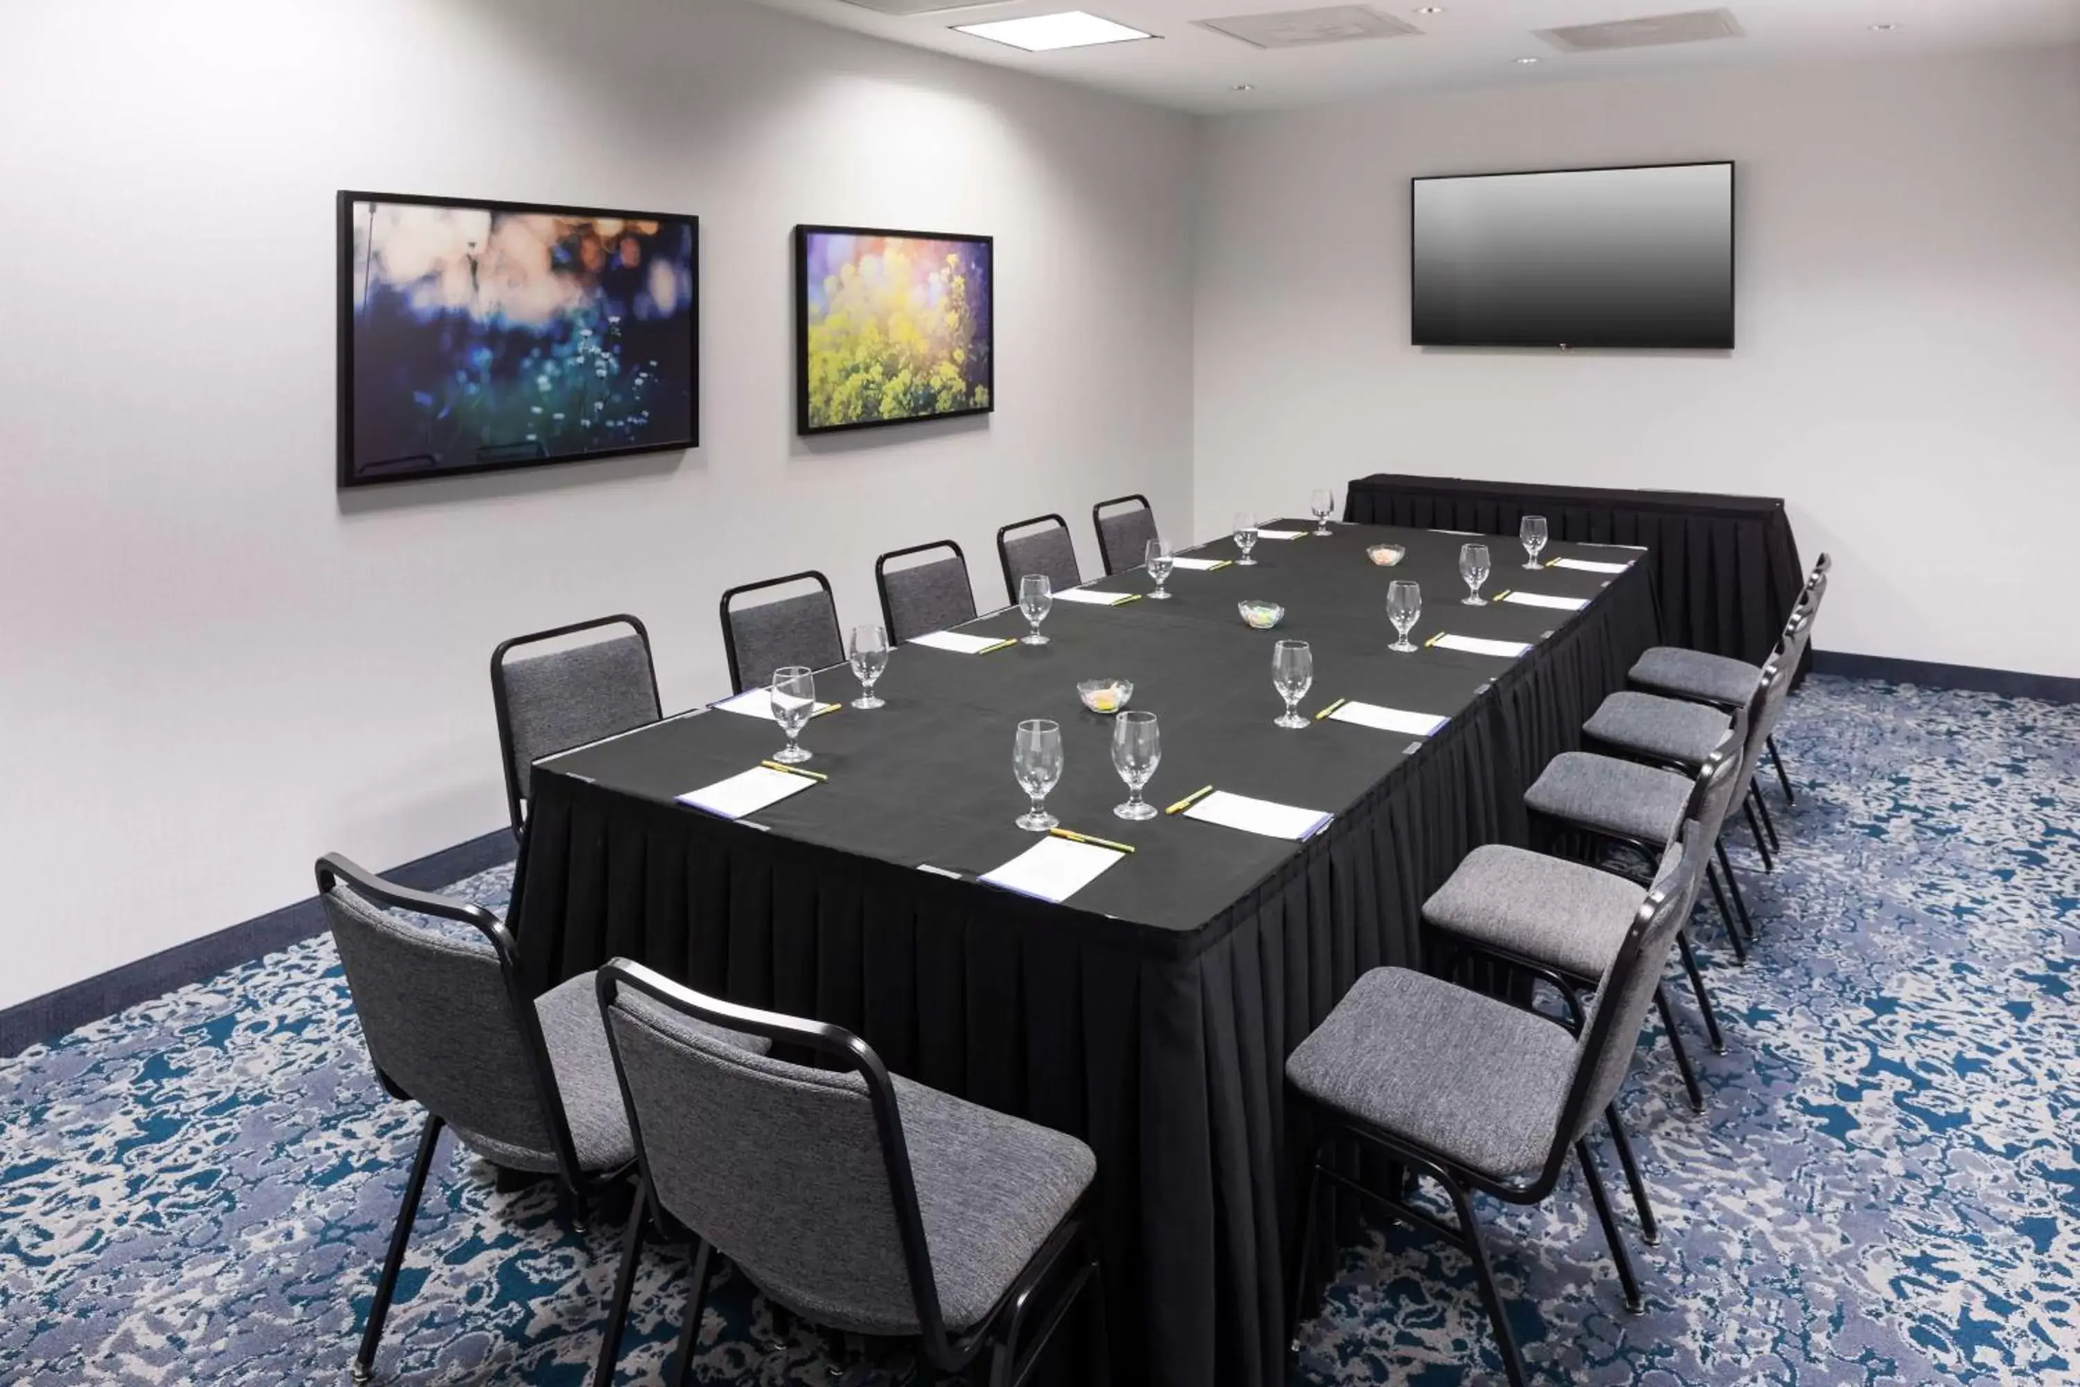
<svg viewBox="0 0 2080 1387"><path fill-rule="evenodd" d="M1668 645L1760 665L1805 582L1776 497L1389 474L1354 480L1344 495L1346 520L1506 534L1510 553L1525 516L1545 516L1556 541L1645 545Z"/></svg>

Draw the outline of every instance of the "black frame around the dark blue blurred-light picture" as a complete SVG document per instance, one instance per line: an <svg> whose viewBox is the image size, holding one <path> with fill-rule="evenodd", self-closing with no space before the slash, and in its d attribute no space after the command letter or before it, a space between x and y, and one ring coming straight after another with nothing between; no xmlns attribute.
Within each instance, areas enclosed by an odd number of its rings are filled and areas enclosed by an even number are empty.
<svg viewBox="0 0 2080 1387"><path fill-rule="evenodd" d="M356 416L356 360L354 360L354 208L356 204L404 204L404 206L435 206L435 208L468 208L483 212L518 212L518 214L545 214L545 216L582 216L582 218L607 218L607 220L655 220L684 225L688 233L688 254L691 254L691 283L688 283L688 306L686 306L686 433L684 437L672 435L666 439L645 439L636 445L614 445L595 449L576 449L560 453L541 453L537 443L537 453L541 455L512 455L480 460L466 466L431 466L431 468L389 468L383 462L358 462L354 455L354 416ZM562 202L510 202L497 198L437 198L424 193L379 193L366 189L339 189L335 195L335 220L337 220L337 472L335 482L341 491L358 487L387 487L391 482L410 480L435 480L447 476L478 476L485 472L512 472L522 468L549 468L568 462L601 462L605 457L628 457L636 453L672 453L686 451L701 445L701 218L686 212L634 212L626 208L591 208L574 206ZM510 445L518 449L518 445ZM478 449L483 453L485 449ZM408 462L408 460L395 460Z"/></svg>

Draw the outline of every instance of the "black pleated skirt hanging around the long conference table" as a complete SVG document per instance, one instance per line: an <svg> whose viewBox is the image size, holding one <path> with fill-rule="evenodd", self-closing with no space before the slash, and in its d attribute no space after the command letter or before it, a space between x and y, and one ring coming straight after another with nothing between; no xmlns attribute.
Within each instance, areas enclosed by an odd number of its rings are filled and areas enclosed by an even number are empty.
<svg viewBox="0 0 2080 1387"><path fill-rule="evenodd" d="M1125 927L537 771L514 905L537 988L626 954L834 1021L890 1069L1084 1137L1123 1383L1283 1381L1283 1061L1656 643L1635 566L1256 890Z"/></svg>

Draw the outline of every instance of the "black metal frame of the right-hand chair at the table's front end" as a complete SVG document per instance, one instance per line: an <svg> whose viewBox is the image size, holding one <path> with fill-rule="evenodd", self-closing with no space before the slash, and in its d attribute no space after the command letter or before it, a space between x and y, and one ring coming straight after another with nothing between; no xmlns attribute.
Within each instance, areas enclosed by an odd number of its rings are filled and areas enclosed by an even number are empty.
<svg viewBox="0 0 2080 1387"><path fill-rule="evenodd" d="M971 1362L976 1362L976 1358L982 1356L984 1350L990 1350L990 1387L1021 1387L1040 1362L1040 1356L1046 1352L1055 1333L1061 1329L1069 1310L1075 1306L1075 1300L1088 1287L1094 1306L1092 1347L1094 1360L1100 1368L1094 1381L1111 1381L1111 1352L1104 1325L1104 1279L1098 1266L1096 1235L1090 1227L1090 1214L1086 1210L1088 1194L1075 1204L1075 1208L1069 1210L1032 1260L1028 1260L1017 1281L1011 1283L990 1312L967 1333L948 1333L938 1304L938 1281L934 1281L932 1275L932 1252L924 1235L924 1214L917 1208L917 1185L911 1177L909 1146L903 1140L903 1119L896 1108L894 1081L888 1077L888 1069L882 1065L874 1048L859 1036L824 1021L807 1021L801 1017L738 1006L736 1002L703 996L666 979L641 963L630 963L628 959L614 959L599 969L601 1013L607 1013L614 1006L614 998L620 988L632 988L695 1021L705 1021L709 1025L720 1025L749 1036L763 1036L776 1044L807 1050L828 1067L857 1073L861 1077L874 1110L874 1127L880 1135L882 1164L888 1171L888 1194L894 1204L896 1235L903 1246L903 1266L909 1273L911 1296L917 1308L917 1339L926 1358L938 1372L963 1372ZM622 1081L622 1104L628 1110L628 1127L634 1133L636 1169L641 1171L643 1181L639 1198L643 1204L630 1214L628 1231L622 1237L622 1268L614 1283L607 1339L599 1350L595 1383L597 1387L607 1387L607 1383L614 1381L614 1364L620 1356L622 1320L628 1316L628 1298L634 1289L634 1271L643 1252L645 1221L641 1214L643 1208L647 1208L649 1221L657 1225L659 1233L668 1241L693 1244L695 1248L693 1275L686 1287L686 1320L680 1327L678 1347L666 1362L666 1383L682 1387L686 1383L686 1368L693 1362L693 1350L701 1333L701 1308L707 1298L707 1277L716 1248L703 1239L699 1231L688 1229L674 1219L659 1202L657 1185L649 1173L649 1148L643 1144L643 1123L636 1115L634 1100L628 1094L628 1077L622 1071L620 1040L616 1038L612 1023L607 1025L607 1044L614 1048L614 1071ZM1071 1250L1077 1250L1084 1256L1084 1264L1048 1302L1038 1329L1032 1333L1032 1345L1023 1356L1019 1356L1019 1341L1028 1329L1025 1320L1038 1304L1036 1293L1050 1281L1052 1273L1065 1262Z"/></svg>

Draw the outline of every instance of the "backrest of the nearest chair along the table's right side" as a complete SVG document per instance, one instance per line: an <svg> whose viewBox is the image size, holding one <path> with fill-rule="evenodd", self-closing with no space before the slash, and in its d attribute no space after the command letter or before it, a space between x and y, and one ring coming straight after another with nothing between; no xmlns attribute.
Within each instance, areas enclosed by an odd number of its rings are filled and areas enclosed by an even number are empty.
<svg viewBox="0 0 2080 1387"><path fill-rule="evenodd" d="M1633 1065L1633 1050L1639 1046L1639 1027L1647 1017L1647 1006L1654 1004L1654 988L1668 965L1668 948L1697 905L1710 853L1712 838L1706 834L1706 826L1689 819L1683 826L1683 836L1668 844L1662 855L1647 898L1639 902L1624 942L1618 944L1616 957L1604 969L1595 1000L1589 1004L1587 1025L1577 1042L1575 1081L1560 1108L1554 1150L1545 1164L1548 1175L1558 1175L1568 1148L1618 1096L1618 1085L1624 1083L1624 1073Z"/></svg>

